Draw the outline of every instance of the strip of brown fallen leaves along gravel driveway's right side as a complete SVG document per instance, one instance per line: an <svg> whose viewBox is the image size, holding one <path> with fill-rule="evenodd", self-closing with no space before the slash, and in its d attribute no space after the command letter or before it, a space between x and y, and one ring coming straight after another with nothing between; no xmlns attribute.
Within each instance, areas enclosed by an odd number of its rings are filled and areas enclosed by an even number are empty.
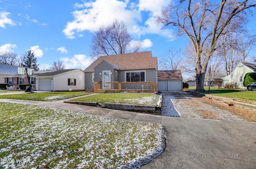
<svg viewBox="0 0 256 169"><path fill-rule="evenodd" d="M256 111L255 110L242 108L242 107L238 107L238 106L226 106L221 103L222 101L214 100L214 99L207 99L207 98L195 98L195 99L198 99L207 104L216 106L222 110L227 110L229 112L232 112L232 113L242 117L244 120L246 120L248 122L256 122Z"/></svg>

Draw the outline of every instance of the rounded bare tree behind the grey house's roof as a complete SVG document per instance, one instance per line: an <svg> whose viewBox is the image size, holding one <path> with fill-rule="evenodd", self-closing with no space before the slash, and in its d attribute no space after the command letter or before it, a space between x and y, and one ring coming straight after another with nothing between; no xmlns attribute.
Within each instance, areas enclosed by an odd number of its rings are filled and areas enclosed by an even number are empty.
<svg viewBox="0 0 256 169"><path fill-rule="evenodd" d="M128 33L124 22L115 20L109 26L100 26L92 35L90 56L116 55L130 52L130 42L133 37ZM139 43L139 42L138 42ZM132 51L141 49L141 44L136 44Z"/></svg>

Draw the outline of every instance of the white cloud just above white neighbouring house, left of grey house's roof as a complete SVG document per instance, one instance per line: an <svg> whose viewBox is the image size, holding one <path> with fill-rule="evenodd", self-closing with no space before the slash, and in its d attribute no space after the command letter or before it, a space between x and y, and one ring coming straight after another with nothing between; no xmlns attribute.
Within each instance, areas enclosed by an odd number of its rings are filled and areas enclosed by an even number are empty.
<svg viewBox="0 0 256 169"><path fill-rule="evenodd" d="M61 57L60 60L66 65L66 69L85 69L94 61L91 57L79 54L74 55L72 57Z"/></svg>

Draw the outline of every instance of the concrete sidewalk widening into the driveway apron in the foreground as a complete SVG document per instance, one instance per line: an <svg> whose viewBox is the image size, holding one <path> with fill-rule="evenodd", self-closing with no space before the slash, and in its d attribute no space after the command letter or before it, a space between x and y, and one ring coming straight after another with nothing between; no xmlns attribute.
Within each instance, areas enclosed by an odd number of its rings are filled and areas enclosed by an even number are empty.
<svg viewBox="0 0 256 169"><path fill-rule="evenodd" d="M256 168L256 123L155 116L54 102L0 99L0 102L49 106L112 118L162 124L166 128L164 153L142 169Z"/></svg>

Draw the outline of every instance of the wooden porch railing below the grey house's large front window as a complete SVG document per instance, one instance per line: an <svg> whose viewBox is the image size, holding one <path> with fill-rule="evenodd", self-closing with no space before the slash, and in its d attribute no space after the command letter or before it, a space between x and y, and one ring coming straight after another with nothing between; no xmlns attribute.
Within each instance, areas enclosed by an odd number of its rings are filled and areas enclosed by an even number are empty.
<svg viewBox="0 0 256 169"><path fill-rule="evenodd" d="M107 82L106 92L156 92L155 82ZM94 84L95 88L95 84Z"/></svg>

